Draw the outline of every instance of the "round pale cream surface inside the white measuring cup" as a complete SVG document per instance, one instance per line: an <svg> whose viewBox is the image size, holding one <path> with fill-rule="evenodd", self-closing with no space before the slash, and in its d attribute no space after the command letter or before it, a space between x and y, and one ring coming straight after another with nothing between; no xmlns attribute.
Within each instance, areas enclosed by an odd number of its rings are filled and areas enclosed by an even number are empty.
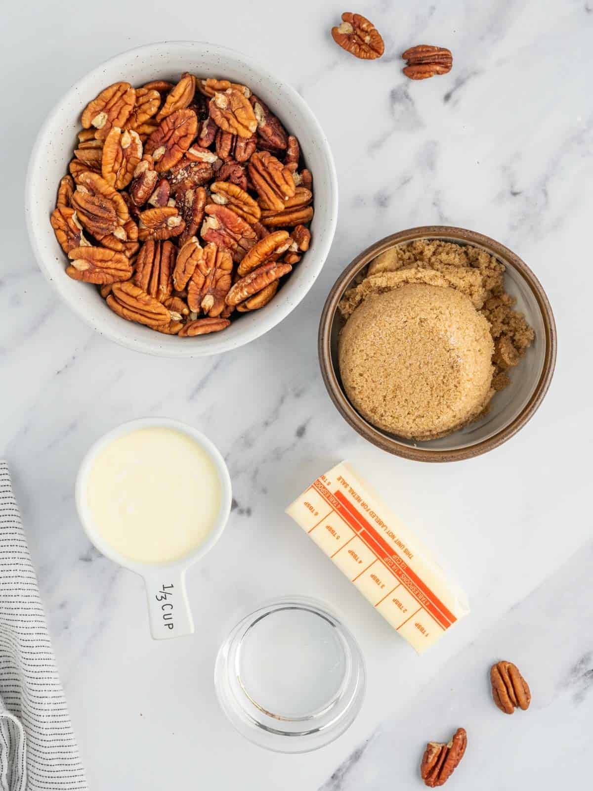
<svg viewBox="0 0 593 791"><path fill-rule="evenodd" d="M209 453L182 431L137 429L111 441L89 470L94 528L124 558L167 563L210 535L221 483Z"/></svg>

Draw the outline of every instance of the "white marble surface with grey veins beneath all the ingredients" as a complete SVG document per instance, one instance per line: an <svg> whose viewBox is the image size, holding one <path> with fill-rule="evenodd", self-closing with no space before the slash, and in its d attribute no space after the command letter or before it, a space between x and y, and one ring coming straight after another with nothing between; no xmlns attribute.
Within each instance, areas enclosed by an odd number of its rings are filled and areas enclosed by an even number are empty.
<svg viewBox="0 0 593 791"><path fill-rule="evenodd" d="M456 789L586 785L593 725L591 607L591 211L593 6L491 0L357 6L383 32L376 63L328 29L341 3L264 0L21 2L4 19L0 454L25 529L93 789L420 789L426 740L469 734ZM87 70L164 38L258 55L311 104L334 149L338 233L314 289L281 326L224 358L147 358L94 335L32 259L22 212L28 151L43 116ZM454 70L403 78L411 44L451 47ZM364 451L334 411L315 357L334 278L373 240L413 225L462 225L534 269L559 332L557 372L507 445L427 466ZM237 507L190 573L198 632L149 638L142 583L96 554L74 512L89 444L146 414L191 422L228 460ZM473 612L418 658L284 516L285 504L346 453L373 457L402 518L440 548ZM304 592L342 611L368 661L351 729L310 755L274 755L236 736L217 707L213 661L245 607ZM516 661L534 699L504 717L486 673Z"/></svg>

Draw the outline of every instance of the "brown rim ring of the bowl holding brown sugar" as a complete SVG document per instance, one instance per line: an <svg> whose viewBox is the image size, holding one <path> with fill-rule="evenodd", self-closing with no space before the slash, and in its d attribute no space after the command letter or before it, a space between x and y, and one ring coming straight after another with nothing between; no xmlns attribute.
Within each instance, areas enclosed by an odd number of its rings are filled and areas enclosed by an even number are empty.
<svg viewBox="0 0 593 791"><path fill-rule="evenodd" d="M465 244L482 245L485 248L491 249L493 254L497 255L505 264L512 266L521 275L523 281L529 286L533 293L542 314L544 339L546 342L542 372L539 376L538 383L530 399L523 409L519 411L519 414L517 414L507 426L504 426L504 428L497 431L497 433L494 433L493 436L476 442L473 445L466 445L464 448L455 448L453 450L432 450L429 448L410 447L410 445L398 441L395 437L387 437L380 430L375 429L366 422L354 409L342 389L342 385L334 370L330 345L331 331L338 310L338 302L342 299L352 279L361 269L366 267L376 255L380 255L380 253L393 247L395 244L402 244L416 239L439 238L452 239ZM330 399L334 402L334 406L338 409L338 412L342 414L342 418L344 418L346 422L349 423L349 426L352 426L361 437L372 442L372 444L376 445L378 448L388 453L393 453L395 456L402 456L404 459L414 461L444 462L472 459L474 456L481 456L482 453L493 450L493 448L498 448L503 442L513 437L525 426L527 421L533 417L539 405L542 403L546 392L548 392L556 365L556 346L556 323L554 321L550 302L538 278L536 278L531 269L527 267L527 264L520 259L516 253L505 247L504 244L500 244L500 242L486 237L482 233L464 228L455 228L450 225L422 225L418 228L410 228L405 231L399 231L398 233L392 233L391 236L384 237L366 248L366 250L363 250L363 252L357 255L346 269L342 271L342 274L340 274L334 286L332 286L330 293L327 295L325 305L323 305L321 320L319 321L318 352L323 384L325 384Z"/></svg>

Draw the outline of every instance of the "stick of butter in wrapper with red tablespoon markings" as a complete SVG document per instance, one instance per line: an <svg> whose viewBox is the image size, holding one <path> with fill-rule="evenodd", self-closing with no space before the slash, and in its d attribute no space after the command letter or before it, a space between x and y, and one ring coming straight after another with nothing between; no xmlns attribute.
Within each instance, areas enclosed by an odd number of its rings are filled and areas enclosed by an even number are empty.
<svg viewBox="0 0 593 791"><path fill-rule="evenodd" d="M286 513L417 653L470 611L463 591L346 462Z"/></svg>

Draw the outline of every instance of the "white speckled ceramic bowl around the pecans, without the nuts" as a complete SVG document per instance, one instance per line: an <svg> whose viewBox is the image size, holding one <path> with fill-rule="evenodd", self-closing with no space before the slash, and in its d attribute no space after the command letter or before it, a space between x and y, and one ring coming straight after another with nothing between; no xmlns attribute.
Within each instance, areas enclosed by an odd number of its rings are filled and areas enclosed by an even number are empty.
<svg viewBox="0 0 593 791"><path fill-rule="evenodd" d="M71 280L64 272L66 256L55 240L50 214L59 180L72 158L80 116L89 100L118 80L132 85L157 78L175 80L183 71L204 77L240 81L261 97L299 139L315 188L312 244L277 296L228 329L195 338L162 335L111 312L98 290ZM296 91L248 55L200 41L148 44L104 62L79 80L47 116L32 149L25 190L25 213L33 252L41 271L81 319L101 335L130 349L167 357L202 357L236 349L270 330L299 304L315 282L334 238L338 215L338 181L327 138L315 115Z"/></svg>

